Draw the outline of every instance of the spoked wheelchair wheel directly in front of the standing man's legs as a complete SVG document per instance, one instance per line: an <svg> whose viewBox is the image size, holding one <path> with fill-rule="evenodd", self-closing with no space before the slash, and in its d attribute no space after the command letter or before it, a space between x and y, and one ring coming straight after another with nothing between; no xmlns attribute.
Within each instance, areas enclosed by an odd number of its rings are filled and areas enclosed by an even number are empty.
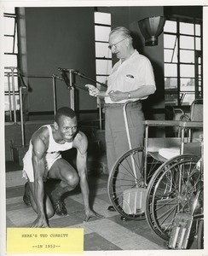
<svg viewBox="0 0 208 256"><path fill-rule="evenodd" d="M129 219L144 219L146 186L144 182L143 148L132 148L114 164L107 182L108 196L113 207Z"/></svg>

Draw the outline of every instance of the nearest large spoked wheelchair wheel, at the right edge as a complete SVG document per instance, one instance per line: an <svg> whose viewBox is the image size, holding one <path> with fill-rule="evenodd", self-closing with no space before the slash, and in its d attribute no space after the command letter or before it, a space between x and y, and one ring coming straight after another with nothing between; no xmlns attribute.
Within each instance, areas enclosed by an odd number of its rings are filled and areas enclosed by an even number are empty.
<svg viewBox="0 0 208 256"><path fill-rule="evenodd" d="M203 186L199 157L182 154L167 160L147 186L146 218L151 229L165 241L177 212L191 213L198 189Z"/></svg>

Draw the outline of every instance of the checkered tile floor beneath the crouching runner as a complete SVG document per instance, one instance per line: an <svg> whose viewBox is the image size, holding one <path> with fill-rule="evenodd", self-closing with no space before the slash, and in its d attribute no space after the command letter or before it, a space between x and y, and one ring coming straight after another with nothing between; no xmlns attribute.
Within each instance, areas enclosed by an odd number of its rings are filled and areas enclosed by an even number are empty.
<svg viewBox="0 0 208 256"><path fill-rule="evenodd" d="M107 175L89 177L90 203L104 218L90 218L84 223L84 207L80 189L70 192L66 198L68 216L55 215L49 220L52 228L84 228L84 251L108 250L165 250L165 241L154 234L146 220L124 222L118 212L109 212ZM7 189L7 227L30 227L36 218L32 207L22 201L24 187Z"/></svg>

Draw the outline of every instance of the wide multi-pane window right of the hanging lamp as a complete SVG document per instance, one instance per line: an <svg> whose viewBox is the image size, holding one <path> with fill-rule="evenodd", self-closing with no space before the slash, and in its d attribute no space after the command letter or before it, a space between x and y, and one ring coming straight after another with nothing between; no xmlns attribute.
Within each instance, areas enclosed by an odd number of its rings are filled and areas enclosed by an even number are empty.
<svg viewBox="0 0 208 256"><path fill-rule="evenodd" d="M203 96L201 33L200 24L165 21L165 105L190 105Z"/></svg>

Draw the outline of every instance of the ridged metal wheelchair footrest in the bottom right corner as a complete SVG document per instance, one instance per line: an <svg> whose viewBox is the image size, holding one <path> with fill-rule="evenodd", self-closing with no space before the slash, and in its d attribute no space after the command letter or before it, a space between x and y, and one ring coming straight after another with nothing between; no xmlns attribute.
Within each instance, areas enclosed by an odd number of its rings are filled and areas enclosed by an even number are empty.
<svg viewBox="0 0 208 256"><path fill-rule="evenodd" d="M170 234L169 248L187 248L192 223L193 216L191 214L182 212L176 214Z"/></svg>

